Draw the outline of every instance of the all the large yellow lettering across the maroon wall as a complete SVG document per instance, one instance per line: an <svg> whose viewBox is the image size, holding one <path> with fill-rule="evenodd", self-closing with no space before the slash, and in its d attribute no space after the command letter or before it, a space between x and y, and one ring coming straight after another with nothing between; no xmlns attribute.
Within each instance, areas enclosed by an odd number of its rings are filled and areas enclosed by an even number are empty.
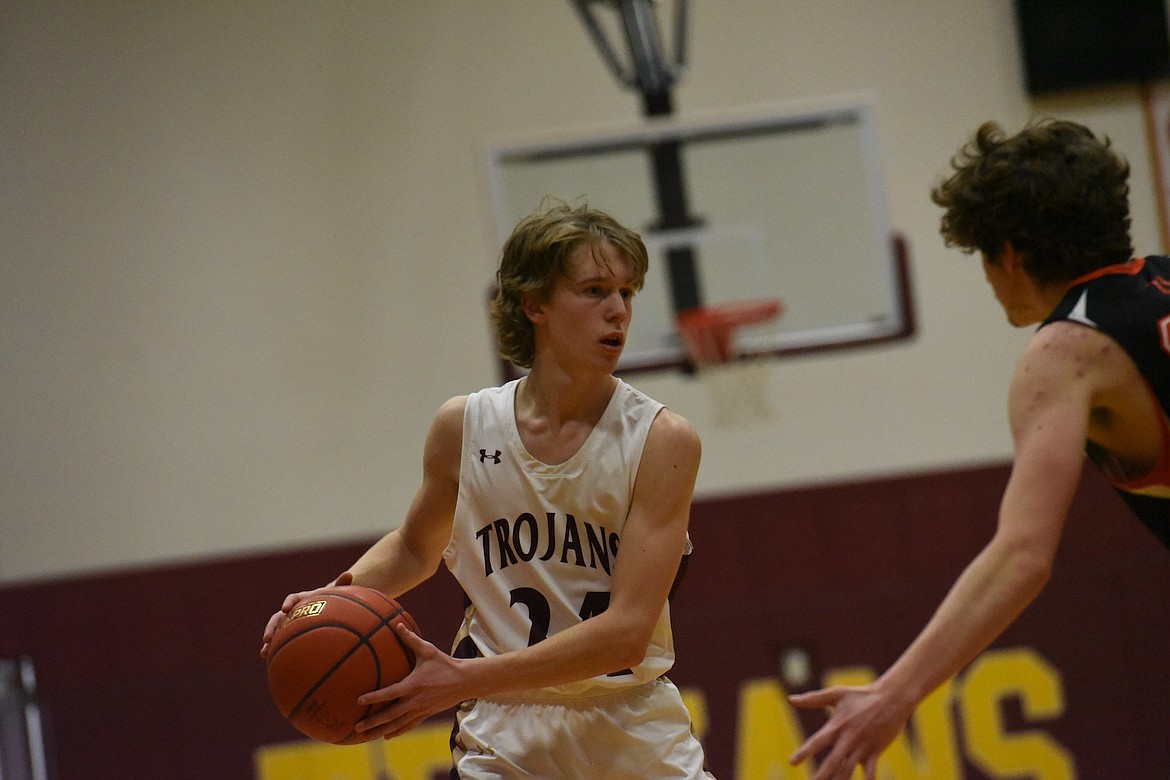
<svg viewBox="0 0 1170 780"><path fill-rule="evenodd" d="M866 667L832 669L823 685L863 685L874 679ZM702 690L687 689L683 703L695 734L708 730ZM990 778L1072 780L1075 760L1062 745L1040 731L1009 732L1002 704L1018 699L1024 718L1051 720L1065 711L1060 672L1031 648L991 650L979 656L957 681L941 685L915 709L878 762L879 780L961 780L963 759L951 707L957 705L965 738L965 758ZM450 725L422 725L390 741L366 745L324 745L302 741L269 745L255 755L257 780L431 780L450 767ZM737 778L810 780L812 765L790 766L789 757L805 739L799 715L787 691L775 678L745 681L739 686L735 765ZM859 768L854 780L862 776Z"/></svg>

